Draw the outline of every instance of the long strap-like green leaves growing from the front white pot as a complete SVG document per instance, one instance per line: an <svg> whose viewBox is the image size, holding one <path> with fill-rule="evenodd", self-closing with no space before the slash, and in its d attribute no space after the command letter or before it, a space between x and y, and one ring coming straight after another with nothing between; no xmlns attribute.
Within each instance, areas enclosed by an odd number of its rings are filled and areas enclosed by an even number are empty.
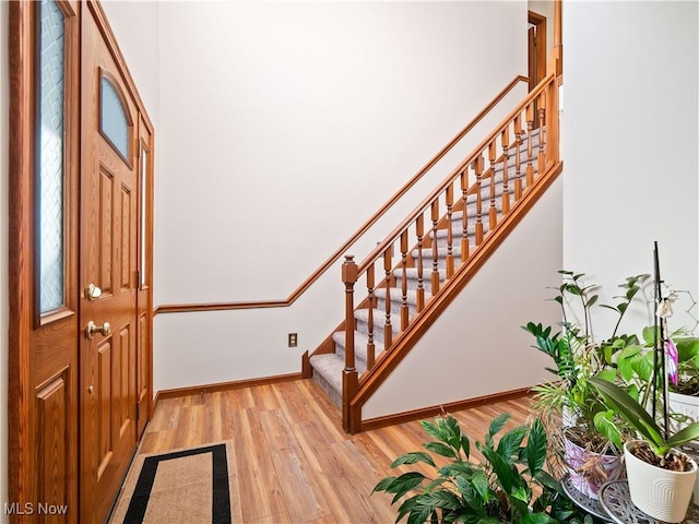
<svg viewBox="0 0 699 524"><path fill-rule="evenodd" d="M602 393L609 408L624 418L648 442L657 456L663 457L671 448L699 438L699 422L692 422L665 439L663 431L643 405L621 388L600 378L590 379L590 383Z"/></svg>

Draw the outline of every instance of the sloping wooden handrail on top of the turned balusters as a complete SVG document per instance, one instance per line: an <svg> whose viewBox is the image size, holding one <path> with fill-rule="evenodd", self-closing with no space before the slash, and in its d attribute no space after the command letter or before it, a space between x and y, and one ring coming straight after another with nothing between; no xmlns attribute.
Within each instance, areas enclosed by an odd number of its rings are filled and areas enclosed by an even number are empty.
<svg viewBox="0 0 699 524"><path fill-rule="evenodd" d="M476 157L481 154L481 152L507 128L507 126L512 121L512 119L524 109L534 98L538 97L542 92L548 86L549 83L556 80L556 75L554 73L547 74L536 87L534 87L528 95L522 99L522 102L512 109L507 117L505 117L500 123L495 128L495 130L487 135L476 147L474 147L469 156L465 157L454 169L451 170L447 177L441 181L439 186L437 186L430 193L427 195L417 206L413 210L413 212L407 215L406 218L401 222L401 224L395 227L391 233L387 235L387 237L377 245L376 248L371 250L371 252L358 264L357 274L364 273L370 264L374 264L380 255L382 255L386 250L393 242L398 240L401 234L410 227L411 224L417 218L418 215L424 213L427 207L437 199L441 193L445 192L447 187L453 182L454 178L463 170L464 167L472 164Z"/></svg>

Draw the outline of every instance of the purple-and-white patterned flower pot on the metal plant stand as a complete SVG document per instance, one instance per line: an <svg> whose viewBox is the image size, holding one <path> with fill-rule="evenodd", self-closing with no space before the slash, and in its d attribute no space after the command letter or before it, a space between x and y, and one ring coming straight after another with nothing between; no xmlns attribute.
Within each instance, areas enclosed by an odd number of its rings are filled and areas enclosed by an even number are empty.
<svg viewBox="0 0 699 524"><path fill-rule="evenodd" d="M625 467L620 456L604 455L587 450L564 438L566 468L570 484L585 497L597 500L604 483L624 478Z"/></svg>

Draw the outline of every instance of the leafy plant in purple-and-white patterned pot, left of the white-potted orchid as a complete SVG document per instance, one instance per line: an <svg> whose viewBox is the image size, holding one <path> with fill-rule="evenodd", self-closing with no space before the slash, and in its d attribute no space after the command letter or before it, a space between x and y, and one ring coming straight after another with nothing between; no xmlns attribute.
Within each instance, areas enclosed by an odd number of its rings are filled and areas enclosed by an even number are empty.
<svg viewBox="0 0 699 524"><path fill-rule="evenodd" d="M619 287L624 294L615 305L597 307L615 311L617 319L607 338L599 341L592 329L593 309L597 303L599 286L584 284L583 273L559 271L561 284L553 298L561 308L560 330L529 322L522 326L531 333L536 349L547 354L556 368L547 368L558 380L533 388L536 392L535 408L542 414L557 412L561 426L548 425L555 443L558 462L565 465L571 484L583 495L596 499L599 488L608 480L624 475L620 460L623 439L618 430L608 426L612 416L597 391L589 380L603 374L614 380L617 373L616 356L627 347L639 343L633 334L618 334L621 319L631 302L639 296L649 275L628 277ZM576 317L577 305L578 317ZM580 320L576 320L579 318Z"/></svg>

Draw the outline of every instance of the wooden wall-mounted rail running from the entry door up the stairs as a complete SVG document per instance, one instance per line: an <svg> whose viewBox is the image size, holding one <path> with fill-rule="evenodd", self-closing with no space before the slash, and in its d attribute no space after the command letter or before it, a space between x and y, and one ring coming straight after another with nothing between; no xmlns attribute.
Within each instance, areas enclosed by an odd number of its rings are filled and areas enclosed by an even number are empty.
<svg viewBox="0 0 699 524"><path fill-rule="evenodd" d="M239 302L206 302L206 303L165 303L155 308L155 313L177 313L192 311L218 311L227 309L258 309L258 308L283 308L294 303L306 290L323 274L332 264L342 258L342 255L354 246L359 238L374 226L415 183L417 183L454 145L457 145L469 132L483 120L502 98L505 98L520 82L529 82L528 76L518 74L500 90L500 92L475 116L473 119L459 131L447 145L445 145L419 171L417 171L407 182L403 184L386 203L379 207L374 215L367 219L359 229L352 235L345 243L343 243L333 254L331 254L300 286L298 286L286 300L250 300Z"/></svg>

